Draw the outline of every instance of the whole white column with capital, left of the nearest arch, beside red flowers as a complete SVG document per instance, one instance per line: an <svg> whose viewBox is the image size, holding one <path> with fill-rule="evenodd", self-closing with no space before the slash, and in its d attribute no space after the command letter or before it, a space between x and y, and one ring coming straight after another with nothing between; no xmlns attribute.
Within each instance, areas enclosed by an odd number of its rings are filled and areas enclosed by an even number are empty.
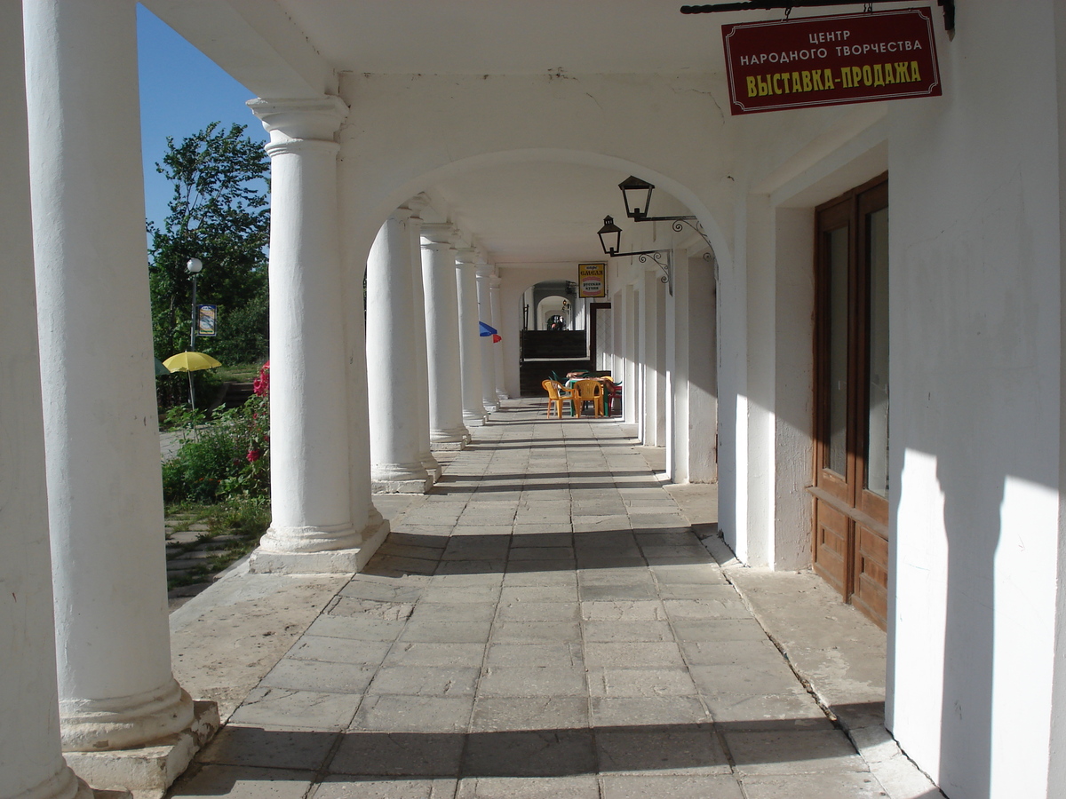
<svg viewBox="0 0 1066 799"><path fill-rule="evenodd" d="M334 135L337 97L248 107L270 132L271 504L260 572L357 571L374 529L353 523ZM359 520L360 526L362 520Z"/></svg>

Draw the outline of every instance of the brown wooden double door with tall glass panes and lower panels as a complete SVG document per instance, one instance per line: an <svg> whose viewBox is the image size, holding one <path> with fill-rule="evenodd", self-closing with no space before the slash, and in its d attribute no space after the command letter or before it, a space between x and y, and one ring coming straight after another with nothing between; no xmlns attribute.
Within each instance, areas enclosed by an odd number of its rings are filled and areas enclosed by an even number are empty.
<svg viewBox="0 0 1066 799"><path fill-rule="evenodd" d="M888 613L888 182L817 213L814 570Z"/></svg>

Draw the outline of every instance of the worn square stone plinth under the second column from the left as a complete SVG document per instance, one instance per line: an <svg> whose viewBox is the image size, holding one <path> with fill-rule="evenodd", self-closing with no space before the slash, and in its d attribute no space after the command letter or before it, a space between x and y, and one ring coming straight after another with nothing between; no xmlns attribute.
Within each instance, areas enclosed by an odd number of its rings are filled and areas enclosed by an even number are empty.
<svg viewBox="0 0 1066 799"><path fill-rule="evenodd" d="M219 730L219 706L194 702L193 722L181 732L151 741L151 746L109 752L66 752L67 765L98 790L97 799L117 799L130 792L133 799L162 799L167 788L192 763ZM79 796L79 799L81 797Z"/></svg>

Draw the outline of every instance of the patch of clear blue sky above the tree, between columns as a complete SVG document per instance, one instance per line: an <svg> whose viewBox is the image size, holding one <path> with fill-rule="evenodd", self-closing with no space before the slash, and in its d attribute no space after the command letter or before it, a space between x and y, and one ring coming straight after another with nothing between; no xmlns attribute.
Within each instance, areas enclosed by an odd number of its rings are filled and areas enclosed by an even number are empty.
<svg viewBox="0 0 1066 799"><path fill-rule="evenodd" d="M244 104L253 97L248 89L142 5L136 22L145 206L148 218L158 223L173 192L156 172L167 136L181 141L216 119L227 128L246 125L245 134L262 142L266 131Z"/></svg>

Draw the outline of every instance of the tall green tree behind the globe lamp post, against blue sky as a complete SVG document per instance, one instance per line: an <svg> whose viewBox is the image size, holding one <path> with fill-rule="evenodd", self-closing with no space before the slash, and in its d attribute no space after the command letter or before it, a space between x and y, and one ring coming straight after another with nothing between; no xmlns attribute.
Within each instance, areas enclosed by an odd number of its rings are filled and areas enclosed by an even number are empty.
<svg viewBox="0 0 1066 799"><path fill-rule="evenodd" d="M223 363L249 363L268 352L266 245L270 160L262 145L211 123L175 144L156 170L174 182L162 226L148 223L152 337L165 359L189 348L192 280L185 262L204 262L197 301L219 306L219 335L197 349Z"/></svg>

